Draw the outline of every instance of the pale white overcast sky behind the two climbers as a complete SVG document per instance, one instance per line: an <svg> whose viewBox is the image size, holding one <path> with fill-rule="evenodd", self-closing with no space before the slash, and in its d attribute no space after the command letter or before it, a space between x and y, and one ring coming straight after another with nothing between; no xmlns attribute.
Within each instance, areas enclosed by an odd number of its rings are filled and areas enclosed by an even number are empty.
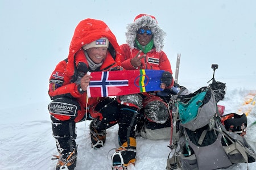
<svg viewBox="0 0 256 170"><path fill-rule="evenodd" d="M67 57L80 20L104 20L121 45L126 25L141 13L154 15L167 33L164 52L174 73L181 53L182 85L207 83L216 63L217 80L231 77L236 79L233 83L254 86L255 6L254 0L0 0L1 105L49 100L49 75Z"/></svg>

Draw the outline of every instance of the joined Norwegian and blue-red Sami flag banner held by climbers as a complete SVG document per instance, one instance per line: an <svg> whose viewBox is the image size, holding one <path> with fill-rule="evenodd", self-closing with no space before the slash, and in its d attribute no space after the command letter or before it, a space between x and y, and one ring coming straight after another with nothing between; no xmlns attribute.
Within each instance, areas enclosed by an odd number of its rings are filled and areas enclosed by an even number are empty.
<svg viewBox="0 0 256 170"><path fill-rule="evenodd" d="M87 87L88 97L107 97L162 91L163 70L120 70L92 72Z"/></svg>

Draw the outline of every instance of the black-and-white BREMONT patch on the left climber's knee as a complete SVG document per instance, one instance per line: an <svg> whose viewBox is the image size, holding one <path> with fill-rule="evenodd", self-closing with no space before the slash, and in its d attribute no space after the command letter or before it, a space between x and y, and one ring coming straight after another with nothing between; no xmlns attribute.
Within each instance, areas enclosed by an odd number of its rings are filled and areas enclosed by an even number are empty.
<svg viewBox="0 0 256 170"><path fill-rule="evenodd" d="M49 112L51 114L60 114L65 116L76 116L77 106L73 104L51 102L49 104Z"/></svg>

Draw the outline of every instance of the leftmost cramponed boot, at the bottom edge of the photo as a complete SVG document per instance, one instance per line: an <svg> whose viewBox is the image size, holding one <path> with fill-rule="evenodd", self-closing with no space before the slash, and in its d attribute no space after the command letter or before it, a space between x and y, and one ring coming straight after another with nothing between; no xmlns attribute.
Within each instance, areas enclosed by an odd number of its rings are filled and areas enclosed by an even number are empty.
<svg viewBox="0 0 256 170"><path fill-rule="evenodd" d="M53 155L57 159L56 170L74 170L76 167L77 151L73 150L67 154Z"/></svg>

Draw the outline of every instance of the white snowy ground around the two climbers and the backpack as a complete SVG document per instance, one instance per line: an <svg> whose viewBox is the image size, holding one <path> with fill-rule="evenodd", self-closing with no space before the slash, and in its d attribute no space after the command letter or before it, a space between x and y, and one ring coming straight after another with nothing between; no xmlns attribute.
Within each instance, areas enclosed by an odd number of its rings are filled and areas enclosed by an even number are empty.
<svg viewBox="0 0 256 170"><path fill-rule="evenodd" d="M200 79L193 83L182 83L189 90L195 91L200 83L207 82ZM246 110L243 106L247 94L256 94L255 80L249 81L245 87L240 87L235 80L226 79L228 90L225 99L218 104L225 105L225 114ZM180 83L181 84L181 83ZM202 83L207 86L207 83ZM249 88L248 88L249 87ZM51 121L47 110L50 100L45 103L13 107L1 111L0 124L0 169L55 169L56 160L51 160L57 154L55 139L52 137ZM250 145L256 147L256 109L253 108L248 116L248 128L245 138ZM78 158L76 169L111 169L110 157L114 148L118 147L117 130L113 126L107 130L105 146L94 150L90 146L89 122L77 124ZM153 141L137 137L137 162L131 169L166 169L168 154L170 153L169 139ZM256 163L250 163L249 169L255 169ZM246 169L247 164L237 164L228 169Z"/></svg>

